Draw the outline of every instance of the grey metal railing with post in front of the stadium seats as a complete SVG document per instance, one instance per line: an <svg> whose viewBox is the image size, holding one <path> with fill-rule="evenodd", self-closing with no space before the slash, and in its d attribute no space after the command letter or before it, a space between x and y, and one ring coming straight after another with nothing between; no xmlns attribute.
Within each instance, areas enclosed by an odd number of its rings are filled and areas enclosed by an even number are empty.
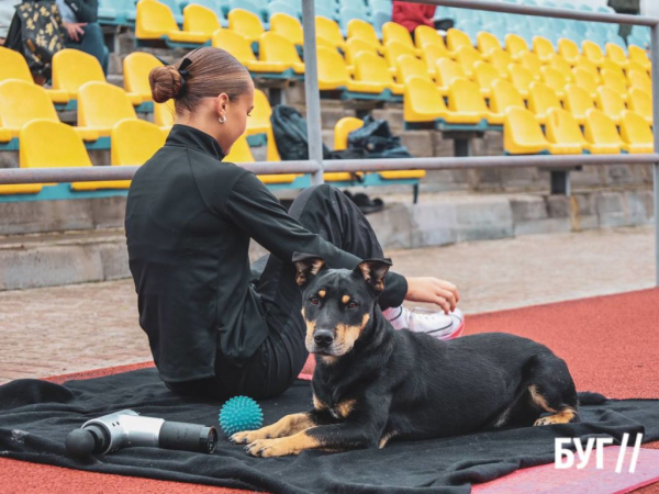
<svg viewBox="0 0 659 494"><path fill-rule="evenodd" d="M654 127L655 153L646 155L567 155L567 156L493 156L467 158L410 158L381 160L323 160L321 100L317 80L317 58L315 37L314 0L302 1L302 24L304 29L304 63L306 120L309 130L308 161L278 161L246 164L245 168L258 175L311 173L312 183L323 183L326 171L384 171L384 170L453 170L487 168L523 168L537 167L544 169L571 168L578 165L654 165L655 198L655 240L656 240L656 284L659 287L659 131ZM648 26L651 30L652 61L652 115L659 122L659 19L640 15L611 14L603 12L578 11L495 2L491 0L404 0L434 5L455 7L460 9L485 10L491 12L536 15L546 18L569 19L577 21L604 22ZM130 180L137 167L94 167L87 169L52 168L52 169L0 169L0 183L37 183L71 182L97 180Z"/></svg>

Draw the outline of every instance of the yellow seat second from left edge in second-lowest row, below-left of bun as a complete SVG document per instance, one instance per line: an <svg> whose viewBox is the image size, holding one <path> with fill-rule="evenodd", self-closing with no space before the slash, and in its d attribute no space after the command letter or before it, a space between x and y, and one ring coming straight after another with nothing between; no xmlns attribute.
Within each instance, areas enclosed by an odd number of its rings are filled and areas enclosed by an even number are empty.
<svg viewBox="0 0 659 494"><path fill-rule="evenodd" d="M137 119L123 89L107 82L87 82L78 91L78 125L110 136L114 124Z"/></svg>

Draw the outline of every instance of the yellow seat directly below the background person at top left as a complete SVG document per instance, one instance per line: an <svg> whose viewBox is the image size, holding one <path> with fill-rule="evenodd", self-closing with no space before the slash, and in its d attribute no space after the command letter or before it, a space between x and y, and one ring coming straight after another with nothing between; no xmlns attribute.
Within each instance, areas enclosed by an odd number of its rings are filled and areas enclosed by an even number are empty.
<svg viewBox="0 0 659 494"><path fill-rule="evenodd" d="M154 0L148 0L154 1ZM53 56L53 87L66 91L75 100L80 87L87 82L105 82L105 75L96 57L79 49L65 48ZM131 102L142 103L137 93L126 93Z"/></svg>

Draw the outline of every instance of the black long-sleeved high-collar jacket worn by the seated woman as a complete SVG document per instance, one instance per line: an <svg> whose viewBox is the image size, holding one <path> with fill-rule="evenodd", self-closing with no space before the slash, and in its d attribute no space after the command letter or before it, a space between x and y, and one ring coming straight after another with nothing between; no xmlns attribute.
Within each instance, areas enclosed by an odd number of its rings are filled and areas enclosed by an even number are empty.
<svg viewBox="0 0 659 494"><path fill-rule="evenodd" d="M239 364L266 339L264 308L249 283L250 238L286 261L297 251L317 254L331 268L360 261L304 229L254 173L223 158L213 137L175 125L129 191L139 324L166 382L213 377L217 350ZM406 290L391 272L386 303L400 305Z"/></svg>

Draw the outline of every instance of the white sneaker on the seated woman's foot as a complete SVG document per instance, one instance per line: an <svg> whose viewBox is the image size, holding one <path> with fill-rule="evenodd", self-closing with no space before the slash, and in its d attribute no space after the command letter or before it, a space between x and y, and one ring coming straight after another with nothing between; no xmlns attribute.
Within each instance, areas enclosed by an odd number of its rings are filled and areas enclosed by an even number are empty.
<svg viewBox="0 0 659 494"><path fill-rule="evenodd" d="M445 314L427 308L416 307L413 311L391 307L383 312L394 329L407 328L414 333L426 333L437 339L454 339L465 330L465 315L456 308Z"/></svg>

